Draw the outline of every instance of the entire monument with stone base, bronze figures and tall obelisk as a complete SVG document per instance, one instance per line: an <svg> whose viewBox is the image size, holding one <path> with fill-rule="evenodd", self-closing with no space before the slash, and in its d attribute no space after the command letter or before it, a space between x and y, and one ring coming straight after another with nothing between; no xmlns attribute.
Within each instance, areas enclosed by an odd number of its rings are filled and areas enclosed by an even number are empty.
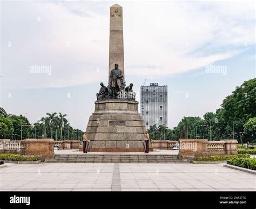
<svg viewBox="0 0 256 209"><path fill-rule="evenodd" d="M145 123L138 112L133 84L124 71L123 8L110 8L109 78L100 83L95 112L89 117L86 133L89 151L144 151Z"/></svg>

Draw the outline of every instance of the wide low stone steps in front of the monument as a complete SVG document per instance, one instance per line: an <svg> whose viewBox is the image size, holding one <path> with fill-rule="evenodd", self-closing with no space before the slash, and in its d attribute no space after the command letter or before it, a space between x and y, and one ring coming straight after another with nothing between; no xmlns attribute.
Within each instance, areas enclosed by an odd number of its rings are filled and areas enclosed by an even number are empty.
<svg viewBox="0 0 256 209"><path fill-rule="evenodd" d="M178 155L55 155L45 163L188 163Z"/></svg>

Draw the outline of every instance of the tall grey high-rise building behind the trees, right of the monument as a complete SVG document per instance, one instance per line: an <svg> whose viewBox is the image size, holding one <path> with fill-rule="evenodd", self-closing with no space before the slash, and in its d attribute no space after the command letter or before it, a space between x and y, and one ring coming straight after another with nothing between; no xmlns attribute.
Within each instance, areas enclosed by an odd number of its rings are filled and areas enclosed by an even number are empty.
<svg viewBox="0 0 256 209"><path fill-rule="evenodd" d="M158 83L150 83L150 86L140 86L140 114L144 117L146 129L153 124L167 126L167 95L167 85L158 86Z"/></svg>

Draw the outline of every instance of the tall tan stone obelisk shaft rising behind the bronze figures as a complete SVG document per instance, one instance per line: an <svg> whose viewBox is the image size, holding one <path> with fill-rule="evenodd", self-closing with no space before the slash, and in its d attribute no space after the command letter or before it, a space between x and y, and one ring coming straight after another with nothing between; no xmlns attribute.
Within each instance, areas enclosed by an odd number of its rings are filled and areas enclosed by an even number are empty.
<svg viewBox="0 0 256 209"><path fill-rule="evenodd" d="M119 65L124 78L124 37L123 37L123 8L118 4L110 7L110 36L109 36L109 83L110 73L114 64Z"/></svg>

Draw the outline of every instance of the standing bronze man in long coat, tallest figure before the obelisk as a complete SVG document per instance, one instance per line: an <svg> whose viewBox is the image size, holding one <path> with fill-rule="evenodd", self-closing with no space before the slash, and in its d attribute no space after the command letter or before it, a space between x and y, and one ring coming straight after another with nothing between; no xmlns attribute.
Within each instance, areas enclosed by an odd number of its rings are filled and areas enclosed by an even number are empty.
<svg viewBox="0 0 256 209"><path fill-rule="evenodd" d="M110 73L110 95L112 99L117 99L118 94L121 95L123 83L123 73L118 69L118 64L114 64L114 69Z"/></svg>

